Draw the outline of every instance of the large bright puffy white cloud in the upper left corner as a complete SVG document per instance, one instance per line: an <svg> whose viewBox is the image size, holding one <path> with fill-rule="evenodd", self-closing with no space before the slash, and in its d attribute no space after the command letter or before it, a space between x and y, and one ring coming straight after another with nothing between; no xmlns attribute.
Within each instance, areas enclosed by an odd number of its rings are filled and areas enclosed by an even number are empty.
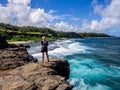
<svg viewBox="0 0 120 90"><path fill-rule="evenodd" d="M0 6L0 21L15 25L42 26L46 24L46 18L51 20L51 14L45 13L44 9L32 9L29 4L30 0L8 0L7 6Z"/></svg>

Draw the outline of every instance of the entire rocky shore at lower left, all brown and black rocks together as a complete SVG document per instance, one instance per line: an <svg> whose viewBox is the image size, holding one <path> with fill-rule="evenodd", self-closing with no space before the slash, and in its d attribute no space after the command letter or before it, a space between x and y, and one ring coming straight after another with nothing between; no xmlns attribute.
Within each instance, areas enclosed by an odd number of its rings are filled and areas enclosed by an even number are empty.
<svg viewBox="0 0 120 90"><path fill-rule="evenodd" d="M8 44L0 36L0 90L72 90L66 81L70 66L67 60L37 62L24 45Z"/></svg>

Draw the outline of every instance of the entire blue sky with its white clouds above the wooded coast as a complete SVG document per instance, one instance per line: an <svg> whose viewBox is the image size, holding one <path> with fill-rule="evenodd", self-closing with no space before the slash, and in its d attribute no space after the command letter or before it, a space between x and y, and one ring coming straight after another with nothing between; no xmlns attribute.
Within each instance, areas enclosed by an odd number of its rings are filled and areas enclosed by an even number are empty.
<svg viewBox="0 0 120 90"><path fill-rule="evenodd" d="M0 22L120 36L120 0L0 0Z"/></svg>

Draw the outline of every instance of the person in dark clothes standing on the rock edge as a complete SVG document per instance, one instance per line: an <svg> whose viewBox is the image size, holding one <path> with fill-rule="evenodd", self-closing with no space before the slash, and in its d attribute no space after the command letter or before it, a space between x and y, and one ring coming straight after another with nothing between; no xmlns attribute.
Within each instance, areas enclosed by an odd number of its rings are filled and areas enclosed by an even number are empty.
<svg viewBox="0 0 120 90"><path fill-rule="evenodd" d="M46 40L45 36L42 36L41 41L41 52L42 52L42 62L44 63L44 53L46 53L47 60L49 62L49 56L48 56L48 41Z"/></svg>

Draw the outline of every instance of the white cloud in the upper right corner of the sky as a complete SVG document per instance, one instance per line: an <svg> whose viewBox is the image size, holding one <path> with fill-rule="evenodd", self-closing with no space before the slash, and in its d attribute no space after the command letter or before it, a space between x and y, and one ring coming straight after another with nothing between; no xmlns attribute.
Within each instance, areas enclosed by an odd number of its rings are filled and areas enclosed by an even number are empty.
<svg viewBox="0 0 120 90"><path fill-rule="evenodd" d="M102 24L107 27L120 26L120 0L112 0L111 4L103 10Z"/></svg>

